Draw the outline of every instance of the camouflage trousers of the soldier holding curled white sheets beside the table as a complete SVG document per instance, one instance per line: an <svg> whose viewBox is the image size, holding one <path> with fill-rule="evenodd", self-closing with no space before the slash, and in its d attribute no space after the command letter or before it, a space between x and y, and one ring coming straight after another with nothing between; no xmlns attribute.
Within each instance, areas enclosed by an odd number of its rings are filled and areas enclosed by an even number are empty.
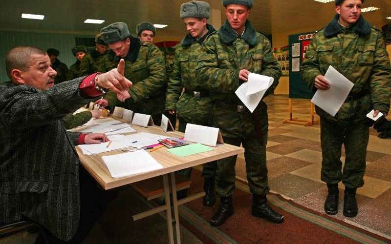
<svg viewBox="0 0 391 244"><path fill-rule="evenodd" d="M247 181L253 194L266 195L269 193L266 167L267 132L262 134L262 142L258 138L223 137L224 143L244 147ZM235 164L237 156L217 160L216 192L219 196L228 197L235 190Z"/></svg>

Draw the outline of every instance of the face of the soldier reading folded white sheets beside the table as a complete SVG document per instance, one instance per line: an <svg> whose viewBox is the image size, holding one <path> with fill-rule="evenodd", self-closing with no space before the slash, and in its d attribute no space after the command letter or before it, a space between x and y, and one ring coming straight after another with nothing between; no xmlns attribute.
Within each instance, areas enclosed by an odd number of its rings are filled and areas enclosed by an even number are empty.
<svg viewBox="0 0 391 244"><path fill-rule="evenodd" d="M238 34L244 30L244 24L251 14L251 9L241 4L228 4L225 6L225 15L232 29Z"/></svg>

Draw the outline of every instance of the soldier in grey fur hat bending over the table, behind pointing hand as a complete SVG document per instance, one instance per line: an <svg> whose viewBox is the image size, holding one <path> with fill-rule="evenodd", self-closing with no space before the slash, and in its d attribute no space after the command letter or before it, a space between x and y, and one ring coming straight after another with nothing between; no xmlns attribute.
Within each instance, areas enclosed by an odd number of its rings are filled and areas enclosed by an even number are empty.
<svg viewBox="0 0 391 244"><path fill-rule="evenodd" d="M133 82L126 96L117 99L115 93L108 92L105 99L96 103L101 106L125 107L136 113L149 114L153 121L159 125L164 113L166 99L166 68L162 52L152 43L141 43L140 39L129 33L128 26L124 22L115 22L102 28L102 39L110 49L115 52L114 65L105 56L101 60L101 68L110 70L125 59L125 77ZM147 65L148 64L148 65ZM100 70L105 72L105 70ZM129 92L129 93L128 93Z"/></svg>

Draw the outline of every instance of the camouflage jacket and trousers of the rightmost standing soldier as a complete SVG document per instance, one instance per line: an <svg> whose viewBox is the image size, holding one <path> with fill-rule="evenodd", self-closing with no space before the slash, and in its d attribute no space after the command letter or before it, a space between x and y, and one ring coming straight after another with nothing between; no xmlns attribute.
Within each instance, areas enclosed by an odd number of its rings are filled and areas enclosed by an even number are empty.
<svg viewBox="0 0 391 244"><path fill-rule="evenodd" d="M372 109L390 109L391 67L381 32L361 16L348 28L338 23L339 15L314 35L301 66L307 85L314 87L315 77L325 75L329 65L354 83L348 99L332 117L316 107L321 117L322 173L327 184L341 180L349 188L364 185L366 150L371 122L366 114ZM346 159L341 173L341 147Z"/></svg>

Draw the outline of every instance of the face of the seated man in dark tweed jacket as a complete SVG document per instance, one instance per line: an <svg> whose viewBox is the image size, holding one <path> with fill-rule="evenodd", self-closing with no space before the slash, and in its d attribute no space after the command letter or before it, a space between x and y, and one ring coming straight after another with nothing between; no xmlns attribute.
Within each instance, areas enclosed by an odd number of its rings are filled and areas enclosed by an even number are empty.
<svg viewBox="0 0 391 244"><path fill-rule="evenodd" d="M11 74L19 84L46 91L54 85L57 72L50 66L50 59L47 55L33 54L25 70L13 70Z"/></svg>

